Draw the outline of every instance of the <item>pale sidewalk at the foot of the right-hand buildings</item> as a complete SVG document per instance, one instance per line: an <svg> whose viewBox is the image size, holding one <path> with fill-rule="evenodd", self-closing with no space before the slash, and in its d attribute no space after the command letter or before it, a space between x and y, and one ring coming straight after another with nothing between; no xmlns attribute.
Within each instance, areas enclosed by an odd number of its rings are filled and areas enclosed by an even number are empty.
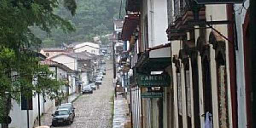
<svg viewBox="0 0 256 128"><path fill-rule="evenodd" d="M131 128L131 117L129 113L128 103L125 98L118 95L114 101L113 128Z"/></svg>

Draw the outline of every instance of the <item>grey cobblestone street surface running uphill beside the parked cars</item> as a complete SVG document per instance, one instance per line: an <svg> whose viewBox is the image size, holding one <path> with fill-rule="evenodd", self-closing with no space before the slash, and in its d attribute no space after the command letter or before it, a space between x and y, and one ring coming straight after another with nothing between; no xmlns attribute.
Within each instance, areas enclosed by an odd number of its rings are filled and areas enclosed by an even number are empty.
<svg viewBox="0 0 256 128"><path fill-rule="evenodd" d="M103 78L99 89L93 94L80 96L74 103L76 116L71 125L64 125L51 128L111 128L111 102L113 96L113 68L107 61L106 75ZM42 119L42 125L51 125L51 112Z"/></svg>

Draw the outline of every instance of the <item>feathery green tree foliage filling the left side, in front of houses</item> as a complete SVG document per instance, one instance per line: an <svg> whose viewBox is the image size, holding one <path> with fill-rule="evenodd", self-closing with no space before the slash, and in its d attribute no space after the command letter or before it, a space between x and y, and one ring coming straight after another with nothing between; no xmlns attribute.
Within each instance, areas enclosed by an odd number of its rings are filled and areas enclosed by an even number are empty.
<svg viewBox="0 0 256 128"><path fill-rule="evenodd" d="M0 122L5 119L3 111L10 109L3 107L7 99L20 102L21 92L26 97L34 92L55 97L63 85L49 78L48 67L38 63L33 49L41 47L41 39L31 30L37 27L47 34L54 28L74 31L69 21L54 13L60 5L75 15L75 0L0 0Z"/></svg>

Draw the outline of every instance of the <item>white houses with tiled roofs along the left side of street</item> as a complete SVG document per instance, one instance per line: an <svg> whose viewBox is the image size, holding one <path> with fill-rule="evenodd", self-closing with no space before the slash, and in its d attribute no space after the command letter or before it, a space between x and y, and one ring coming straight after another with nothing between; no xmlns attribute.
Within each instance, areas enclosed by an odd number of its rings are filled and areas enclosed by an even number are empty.
<svg viewBox="0 0 256 128"><path fill-rule="evenodd" d="M99 44L90 42L73 43L64 48L42 48L38 53L41 57L40 64L49 67L53 72L50 76L52 79L64 81L59 93L61 99L48 99L46 95L38 96L35 93L28 113L27 110L22 110L22 100L20 103L12 100L12 110L9 113L12 122L9 128L27 128L27 117L29 128L33 128L38 122L38 113L42 115L49 112L61 102L68 102L68 96L81 93L82 86L93 81L93 75L100 67L100 53Z"/></svg>

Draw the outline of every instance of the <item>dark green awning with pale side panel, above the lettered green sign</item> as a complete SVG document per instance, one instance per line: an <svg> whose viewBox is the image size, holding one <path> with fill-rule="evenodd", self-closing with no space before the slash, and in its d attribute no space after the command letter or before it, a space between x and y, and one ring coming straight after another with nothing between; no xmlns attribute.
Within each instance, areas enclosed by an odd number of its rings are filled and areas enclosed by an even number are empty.
<svg viewBox="0 0 256 128"><path fill-rule="evenodd" d="M147 50L136 64L139 72L163 71L172 64L171 44L159 45Z"/></svg>

